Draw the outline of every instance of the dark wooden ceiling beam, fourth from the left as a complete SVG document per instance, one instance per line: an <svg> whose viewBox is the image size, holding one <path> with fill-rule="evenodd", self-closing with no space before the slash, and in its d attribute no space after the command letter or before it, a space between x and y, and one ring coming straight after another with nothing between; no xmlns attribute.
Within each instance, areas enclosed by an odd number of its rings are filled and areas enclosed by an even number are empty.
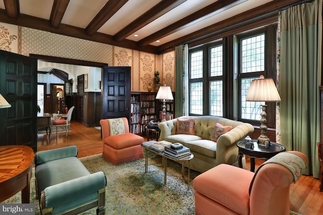
<svg viewBox="0 0 323 215"><path fill-rule="evenodd" d="M154 6L152 9L141 15L138 19L130 23L127 27L119 31L114 39L121 41L126 39L129 35L133 34L142 27L148 25L155 19L163 16L167 12L186 2L187 0L164 0Z"/></svg>

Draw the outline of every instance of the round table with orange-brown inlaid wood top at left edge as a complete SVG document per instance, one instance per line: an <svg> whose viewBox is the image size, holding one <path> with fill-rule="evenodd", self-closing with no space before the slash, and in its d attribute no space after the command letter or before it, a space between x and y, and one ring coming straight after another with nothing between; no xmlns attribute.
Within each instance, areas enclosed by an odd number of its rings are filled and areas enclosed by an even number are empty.
<svg viewBox="0 0 323 215"><path fill-rule="evenodd" d="M21 190L21 203L29 203L34 151L27 146L0 147L0 202Z"/></svg>

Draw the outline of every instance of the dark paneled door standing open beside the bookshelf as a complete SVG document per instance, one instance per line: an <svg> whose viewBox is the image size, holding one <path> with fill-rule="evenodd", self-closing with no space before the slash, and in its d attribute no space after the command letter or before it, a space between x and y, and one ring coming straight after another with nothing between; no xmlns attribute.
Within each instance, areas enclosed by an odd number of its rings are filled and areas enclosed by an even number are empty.
<svg viewBox="0 0 323 215"><path fill-rule="evenodd" d="M106 66L102 73L102 119L126 117L130 122L130 66Z"/></svg>

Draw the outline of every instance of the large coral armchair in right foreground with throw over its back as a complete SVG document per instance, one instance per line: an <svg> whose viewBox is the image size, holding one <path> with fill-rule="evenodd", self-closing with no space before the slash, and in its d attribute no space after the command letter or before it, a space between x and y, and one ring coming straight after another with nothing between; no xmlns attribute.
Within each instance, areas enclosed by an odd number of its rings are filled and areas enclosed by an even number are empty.
<svg viewBox="0 0 323 215"><path fill-rule="evenodd" d="M307 168L300 152L283 152L256 173L220 164L193 180L196 214L289 214L289 188Z"/></svg>

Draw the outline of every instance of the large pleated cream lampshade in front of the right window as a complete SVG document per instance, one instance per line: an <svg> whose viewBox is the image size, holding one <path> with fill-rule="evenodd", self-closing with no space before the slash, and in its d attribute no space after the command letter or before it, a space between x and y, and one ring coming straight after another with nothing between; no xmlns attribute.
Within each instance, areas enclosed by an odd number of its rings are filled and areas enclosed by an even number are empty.
<svg viewBox="0 0 323 215"><path fill-rule="evenodd" d="M281 101L281 97L273 79L254 79L251 82L246 101L278 102Z"/></svg>

